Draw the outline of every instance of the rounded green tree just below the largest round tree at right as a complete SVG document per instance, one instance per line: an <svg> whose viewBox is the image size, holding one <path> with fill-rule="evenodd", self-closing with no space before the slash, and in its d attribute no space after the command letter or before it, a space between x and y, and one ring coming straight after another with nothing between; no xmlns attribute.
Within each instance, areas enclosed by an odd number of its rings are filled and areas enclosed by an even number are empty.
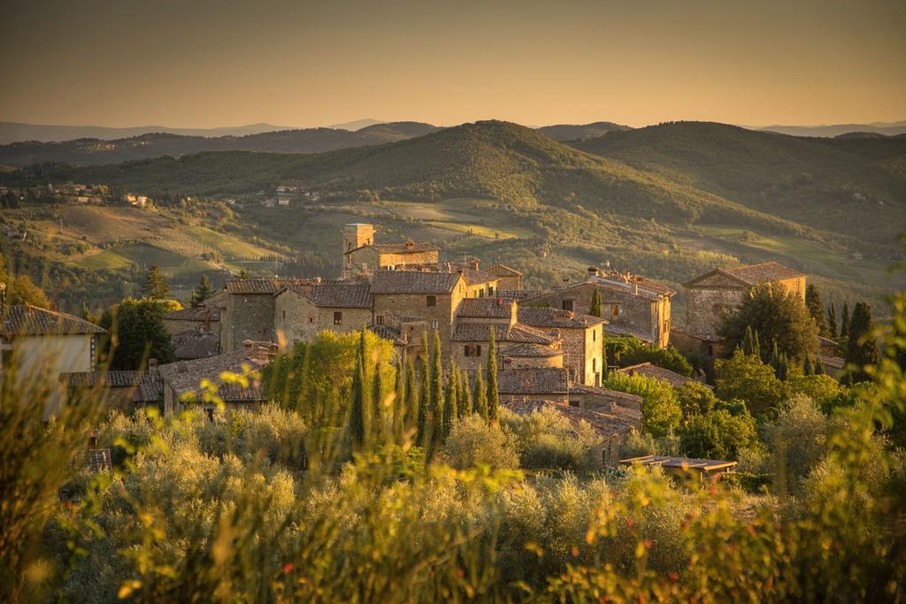
<svg viewBox="0 0 906 604"><path fill-rule="evenodd" d="M783 406L786 388L769 365L737 350L728 360L718 360L715 394L724 400L746 401L752 416L763 421L776 416Z"/></svg>

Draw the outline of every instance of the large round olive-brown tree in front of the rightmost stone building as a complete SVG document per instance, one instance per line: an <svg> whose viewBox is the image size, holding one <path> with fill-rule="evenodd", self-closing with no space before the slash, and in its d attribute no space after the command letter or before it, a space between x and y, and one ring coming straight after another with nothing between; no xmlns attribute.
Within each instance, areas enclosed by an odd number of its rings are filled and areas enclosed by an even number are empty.
<svg viewBox="0 0 906 604"><path fill-rule="evenodd" d="M780 352L801 361L818 346L818 327L794 293L770 284L757 285L725 317L718 334L732 347L741 345L748 328L762 342L776 341Z"/></svg>

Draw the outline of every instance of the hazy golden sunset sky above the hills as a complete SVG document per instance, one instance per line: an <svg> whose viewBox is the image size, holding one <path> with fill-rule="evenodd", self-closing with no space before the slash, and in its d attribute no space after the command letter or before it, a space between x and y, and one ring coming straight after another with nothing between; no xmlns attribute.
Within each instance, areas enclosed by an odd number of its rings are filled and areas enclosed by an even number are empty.
<svg viewBox="0 0 906 604"><path fill-rule="evenodd" d="M0 0L0 120L906 120L903 0Z"/></svg>

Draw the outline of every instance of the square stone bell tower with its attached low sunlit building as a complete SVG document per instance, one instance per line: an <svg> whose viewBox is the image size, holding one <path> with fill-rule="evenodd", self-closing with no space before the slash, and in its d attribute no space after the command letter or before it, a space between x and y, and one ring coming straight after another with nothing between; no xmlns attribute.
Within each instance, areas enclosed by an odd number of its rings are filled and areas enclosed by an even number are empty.
<svg viewBox="0 0 906 604"><path fill-rule="evenodd" d="M345 225L342 239L344 278L405 265L438 264L439 261L439 249L435 245L411 240L402 244L375 243L374 225Z"/></svg>

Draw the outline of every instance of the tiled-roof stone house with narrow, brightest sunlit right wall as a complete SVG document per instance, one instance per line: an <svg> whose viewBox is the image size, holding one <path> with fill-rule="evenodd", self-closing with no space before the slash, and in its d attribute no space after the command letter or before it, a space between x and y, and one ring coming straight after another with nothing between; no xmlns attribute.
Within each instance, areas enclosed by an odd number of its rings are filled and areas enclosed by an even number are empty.
<svg viewBox="0 0 906 604"><path fill-rule="evenodd" d="M563 340L564 365L575 383L601 386L607 321L550 307L520 306L517 316L520 323Z"/></svg>

